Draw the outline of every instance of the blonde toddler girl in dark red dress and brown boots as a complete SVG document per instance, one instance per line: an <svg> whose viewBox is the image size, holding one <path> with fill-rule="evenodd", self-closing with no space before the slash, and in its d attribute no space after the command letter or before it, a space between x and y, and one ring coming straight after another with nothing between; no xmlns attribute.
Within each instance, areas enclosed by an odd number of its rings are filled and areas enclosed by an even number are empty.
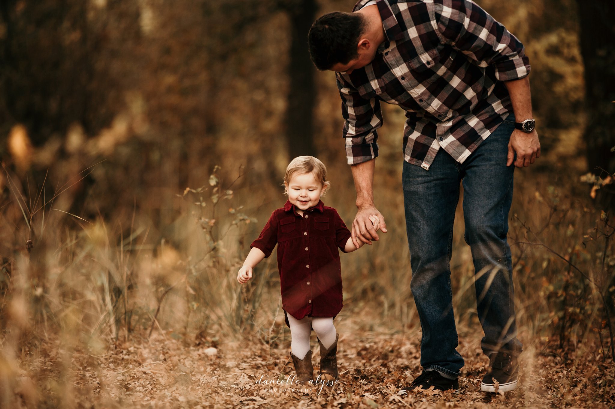
<svg viewBox="0 0 615 409"><path fill-rule="evenodd" d="M337 380L338 333L333 318L342 309L342 281L338 247L357 250L351 232L335 208L320 197L330 186L327 169L313 156L299 156L286 168L284 193L288 201L274 210L261 235L250 245L237 280L246 283L252 269L269 257L277 243L282 308L290 327L291 353L298 383L314 380L309 337L312 329L320 345L320 376ZM370 216L376 231L379 219ZM359 240L359 247L363 242Z"/></svg>

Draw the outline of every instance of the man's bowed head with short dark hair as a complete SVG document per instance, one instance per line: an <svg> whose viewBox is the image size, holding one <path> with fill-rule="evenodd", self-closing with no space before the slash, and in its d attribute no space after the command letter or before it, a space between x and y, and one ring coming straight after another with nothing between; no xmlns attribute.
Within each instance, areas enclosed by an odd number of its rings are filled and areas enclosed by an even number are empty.
<svg viewBox="0 0 615 409"><path fill-rule="evenodd" d="M362 13L332 12L319 17L308 34L312 62L320 71L352 72L365 67L378 45L365 38L368 21Z"/></svg>

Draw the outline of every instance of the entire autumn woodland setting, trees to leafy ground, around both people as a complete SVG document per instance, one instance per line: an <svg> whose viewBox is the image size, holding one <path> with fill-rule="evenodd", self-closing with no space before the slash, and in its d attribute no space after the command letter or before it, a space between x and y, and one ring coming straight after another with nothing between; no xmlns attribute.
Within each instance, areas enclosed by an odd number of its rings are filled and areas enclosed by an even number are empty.
<svg viewBox="0 0 615 409"><path fill-rule="evenodd" d="M460 397L476 406L614 404L615 15L609 0L477 1L531 63L542 157L510 212L526 369L506 396L485 369L474 267L456 216L451 280ZM386 105L376 206L389 232L342 257L344 387L268 391L290 335L275 257L236 272L316 155L350 224L352 175L332 72L309 61L315 17L348 0L6 0L0 4L0 406L405 405L419 373L401 165ZM258 375L258 376L257 376Z"/></svg>

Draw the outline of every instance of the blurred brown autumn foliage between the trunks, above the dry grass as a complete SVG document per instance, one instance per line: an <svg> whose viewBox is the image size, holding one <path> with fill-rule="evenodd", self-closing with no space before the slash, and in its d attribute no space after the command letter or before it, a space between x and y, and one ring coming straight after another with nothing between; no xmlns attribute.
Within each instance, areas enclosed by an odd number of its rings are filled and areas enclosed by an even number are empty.
<svg viewBox="0 0 615 409"><path fill-rule="evenodd" d="M135 197L147 197L152 189L196 185L215 157L226 171L250 164L252 183L256 175L273 182L288 161L292 4L2 2L0 50L7 64L0 70L0 136L9 136L15 124L25 126L40 150L39 160L31 162L38 178L52 164L63 164L54 166L51 185L106 159L75 187L85 216L132 208ZM568 166L582 168L584 82L576 2L480 4L523 41L530 56L546 156L538 166L557 169L566 158ZM322 1L319 13L353 5ZM315 146L318 155L338 162L343 140L333 74L319 72L315 86ZM380 142L399 161L402 112L394 108L387 107ZM273 145L281 149L270 150ZM0 156L9 159L6 143L0 143ZM114 189L119 195L113 205L89 200L113 189L111 181L121 175L131 177ZM163 208L146 210L162 224L173 217Z"/></svg>

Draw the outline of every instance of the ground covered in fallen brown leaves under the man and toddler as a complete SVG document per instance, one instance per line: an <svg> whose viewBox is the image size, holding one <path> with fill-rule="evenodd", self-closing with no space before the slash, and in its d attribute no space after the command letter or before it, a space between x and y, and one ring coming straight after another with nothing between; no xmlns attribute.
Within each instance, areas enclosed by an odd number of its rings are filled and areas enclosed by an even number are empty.
<svg viewBox="0 0 615 409"><path fill-rule="evenodd" d="M99 354L68 348L71 342L66 338L50 337L36 355L20 365L22 373L12 403L75 408L615 405L614 366L610 356L603 362L600 345L561 350L548 340L526 340L520 386L506 394L480 392L488 359L480 352L482 334L476 329L459 331L459 352L466 359L459 394L413 392L400 397L399 389L420 373L420 333L416 329L387 332L386 324L366 325L360 317L336 323L339 384L332 390L307 392L292 391L288 384L295 373L288 356L288 336L270 350L258 337L225 342L176 339L179 337L154 332L150 340L133 336L106 348L99 345ZM315 338L312 341L317 367L317 343Z"/></svg>

